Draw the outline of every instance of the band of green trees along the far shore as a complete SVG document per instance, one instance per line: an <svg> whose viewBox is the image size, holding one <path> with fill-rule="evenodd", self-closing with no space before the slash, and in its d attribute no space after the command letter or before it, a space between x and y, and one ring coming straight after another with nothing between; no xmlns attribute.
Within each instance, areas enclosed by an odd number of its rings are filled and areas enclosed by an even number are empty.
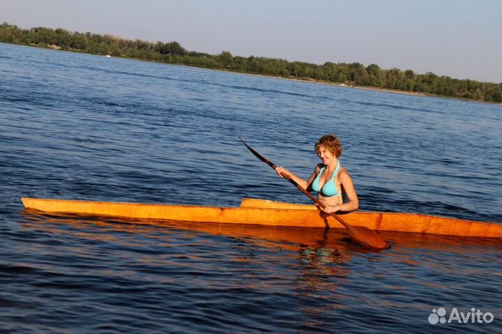
<svg viewBox="0 0 502 334"><path fill-rule="evenodd" d="M369 66L363 66L361 63L331 62L317 65L259 56L233 56L228 51L213 55L185 50L174 41L151 43L139 39L128 40L110 35L45 27L21 29L7 22L0 25L0 42L502 103L502 83L454 79L434 73L418 74L413 70L403 71L398 68L386 70L373 63Z"/></svg>

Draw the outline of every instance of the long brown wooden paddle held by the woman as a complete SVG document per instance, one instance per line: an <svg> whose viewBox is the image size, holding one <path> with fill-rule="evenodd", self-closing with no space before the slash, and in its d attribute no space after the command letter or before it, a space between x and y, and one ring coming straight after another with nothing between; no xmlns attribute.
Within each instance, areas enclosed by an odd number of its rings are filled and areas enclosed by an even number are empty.
<svg viewBox="0 0 502 334"><path fill-rule="evenodd" d="M272 162L268 161L266 158L264 158L262 155L260 155L257 151L254 151L254 149L252 149L248 144L246 144L241 137L239 137L239 139L241 139L241 142L243 142L243 144L248 148L248 150L250 150L251 153L253 153L257 158L259 158L259 160L265 162L267 165L272 167L274 170L277 169L277 166L275 166ZM312 199L312 201L314 201L315 204L317 204L321 209L324 209L326 207L324 204L319 202L319 200L317 198L312 196L312 194L310 192L307 192L307 190L303 189L303 187L301 185L296 183L296 181L291 179L288 175L286 175L284 173L281 173L281 175L284 177L284 179L287 179L287 181L293 183L293 185L295 185L296 188L301 190L301 192L303 192L310 199ZM347 232L349 233L349 236L351 237L351 239L353 241L356 241L356 243L359 243L360 245L363 245L367 248L373 248L376 250L383 250L385 248L389 248L387 243L385 241L383 241L383 239L380 238L380 236L372 229L368 229L365 226L352 226L352 225L349 225L348 222L346 222L345 220L340 218L335 213L330 213L330 215L332 215L336 220L338 220L342 225L344 225L344 227L347 229Z"/></svg>

